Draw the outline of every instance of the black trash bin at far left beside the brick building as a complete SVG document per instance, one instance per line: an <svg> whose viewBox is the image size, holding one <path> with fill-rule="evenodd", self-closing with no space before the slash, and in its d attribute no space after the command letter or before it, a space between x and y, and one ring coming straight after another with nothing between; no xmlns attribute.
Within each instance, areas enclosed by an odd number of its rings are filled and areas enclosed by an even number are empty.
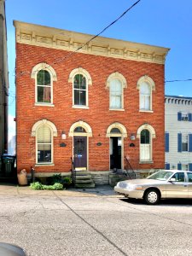
<svg viewBox="0 0 192 256"><path fill-rule="evenodd" d="M2 175L3 177L16 177L15 172L15 155L2 155Z"/></svg>

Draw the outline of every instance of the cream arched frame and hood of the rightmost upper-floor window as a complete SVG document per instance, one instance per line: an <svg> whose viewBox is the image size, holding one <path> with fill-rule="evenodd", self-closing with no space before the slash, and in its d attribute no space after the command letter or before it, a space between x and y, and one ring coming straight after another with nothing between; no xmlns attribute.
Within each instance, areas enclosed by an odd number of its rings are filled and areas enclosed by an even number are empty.
<svg viewBox="0 0 192 256"><path fill-rule="evenodd" d="M149 109L141 108L141 101L142 101L142 95L141 95L141 85L143 83L148 84L150 88L150 99L149 99ZM137 81L137 90L139 90L139 112L151 112L153 113L153 90L155 90L155 84L154 80L148 77L147 75L141 77Z"/></svg>

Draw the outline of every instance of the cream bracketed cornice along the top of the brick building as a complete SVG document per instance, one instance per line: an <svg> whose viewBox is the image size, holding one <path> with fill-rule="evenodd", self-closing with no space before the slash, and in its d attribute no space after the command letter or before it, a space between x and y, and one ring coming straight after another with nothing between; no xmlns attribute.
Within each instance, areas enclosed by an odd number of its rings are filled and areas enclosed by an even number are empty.
<svg viewBox="0 0 192 256"><path fill-rule="evenodd" d="M30 23L14 21L16 42L47 48L77 50L92 38L92 35L79 32L70 32L48 26L39 26ZM164 64L168 48L138 44L128 41L97 37L79 52L90 55L102 55L113 58L145 61Z"/></svg>

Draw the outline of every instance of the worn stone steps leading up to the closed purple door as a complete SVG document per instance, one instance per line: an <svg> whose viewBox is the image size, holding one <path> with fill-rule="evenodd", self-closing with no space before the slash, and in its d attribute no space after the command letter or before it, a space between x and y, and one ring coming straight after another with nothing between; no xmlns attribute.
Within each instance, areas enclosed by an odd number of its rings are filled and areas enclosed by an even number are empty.
<svg viewBox="0 0 192 256"><path fill-rule="evenodd" d="M93 182L90 172L87 171L75 171L75 185L77 189L92 189L96 184Z"/></svg>

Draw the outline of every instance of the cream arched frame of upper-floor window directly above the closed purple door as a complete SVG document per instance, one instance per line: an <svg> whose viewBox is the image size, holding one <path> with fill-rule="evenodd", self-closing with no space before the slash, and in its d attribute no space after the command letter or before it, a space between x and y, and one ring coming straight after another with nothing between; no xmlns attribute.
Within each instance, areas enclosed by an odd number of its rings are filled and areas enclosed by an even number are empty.
<svg viewBox="0 0 192 256"><path fill-rule="evenodd" d="M84 76L84 78L86 79L86 105L75 105L74 104L74 84L73 84L73 80L74 77L77 74L81 74ZM73 84L73 108L89 108L89 86L92 85L92 79L90 77L90 73L88 73L84 68L82 67L78 67L73 69L73 71L69 74L69 79L68 79L68 83L72 83Z"/></svg>

